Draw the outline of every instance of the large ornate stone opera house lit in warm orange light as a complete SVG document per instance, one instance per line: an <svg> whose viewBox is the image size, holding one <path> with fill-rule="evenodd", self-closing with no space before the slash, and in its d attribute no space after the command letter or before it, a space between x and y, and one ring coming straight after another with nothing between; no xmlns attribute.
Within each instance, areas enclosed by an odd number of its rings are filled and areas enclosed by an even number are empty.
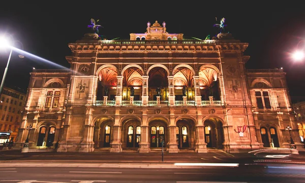
<svg viewBox="0 0 305 183"><path fill-rule="evenodd" d="M184 40L156 21L130 40L90 33L69 47L71 70L31 73L15 148L28 133L30 151L114 153L290 147L287 126L298 136L285 73L246 70L248 43L231 34Z"/></svg>

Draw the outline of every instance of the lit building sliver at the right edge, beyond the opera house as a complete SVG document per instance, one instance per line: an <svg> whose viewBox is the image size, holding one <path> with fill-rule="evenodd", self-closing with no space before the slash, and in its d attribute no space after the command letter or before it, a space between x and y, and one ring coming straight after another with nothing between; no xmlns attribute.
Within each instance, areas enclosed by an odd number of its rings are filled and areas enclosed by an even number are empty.
<svg viewBox="0 0 305 183"><path fill-rule="evenodd" d="M292 104L301 142L305 142L305 102Z"/></svg>

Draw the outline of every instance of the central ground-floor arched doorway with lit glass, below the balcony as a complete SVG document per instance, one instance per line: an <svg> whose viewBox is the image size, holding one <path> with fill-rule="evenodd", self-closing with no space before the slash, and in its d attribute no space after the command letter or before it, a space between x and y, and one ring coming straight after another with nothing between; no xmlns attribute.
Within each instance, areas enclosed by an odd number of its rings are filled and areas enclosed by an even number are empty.
<svg viewBox="0 0 305 183"><path fill-rule="evenodd" d="M165 147L167 125L163 121L153 121L149 126L150 147Z"/></svg>

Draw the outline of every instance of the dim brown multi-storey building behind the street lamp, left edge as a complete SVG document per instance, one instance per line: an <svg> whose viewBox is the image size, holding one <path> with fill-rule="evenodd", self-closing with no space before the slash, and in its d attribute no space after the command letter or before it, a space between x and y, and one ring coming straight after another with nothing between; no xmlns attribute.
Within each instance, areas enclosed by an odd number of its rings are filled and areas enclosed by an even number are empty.
<svg viewBox="0 0 305 183"><path fill-rule="evenodd" d="M20 88L4 86L0 96L0 144L15 141L21 123L26 94Z"/></svg>

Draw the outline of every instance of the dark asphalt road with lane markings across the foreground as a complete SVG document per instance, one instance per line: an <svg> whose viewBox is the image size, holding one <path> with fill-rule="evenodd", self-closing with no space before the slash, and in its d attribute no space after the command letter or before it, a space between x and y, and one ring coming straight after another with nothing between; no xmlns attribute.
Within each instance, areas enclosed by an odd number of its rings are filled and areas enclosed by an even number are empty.
<svg viewBox="0 0 305 183"><path fill-rule="evenodd" d="M286 166L286 167L285 167ZM0 182L305 182L303 165L179 168L0 167ZM281 168L279 168L281 167Z"/></svg>

